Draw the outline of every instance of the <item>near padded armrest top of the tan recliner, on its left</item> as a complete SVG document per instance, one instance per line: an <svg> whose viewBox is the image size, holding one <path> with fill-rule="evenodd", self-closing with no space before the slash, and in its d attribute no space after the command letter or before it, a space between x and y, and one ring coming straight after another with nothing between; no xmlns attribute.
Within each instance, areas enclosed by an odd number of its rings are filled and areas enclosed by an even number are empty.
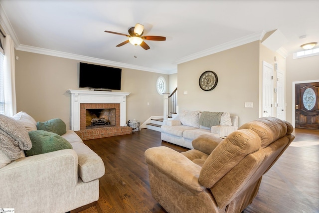
<svg viewBox="0 0 319 213"><path fill-rule="evenodd" d="M189 190L204 191L198 183L201 167L168 147L153 147L145 151L146 163Z"/></svg>

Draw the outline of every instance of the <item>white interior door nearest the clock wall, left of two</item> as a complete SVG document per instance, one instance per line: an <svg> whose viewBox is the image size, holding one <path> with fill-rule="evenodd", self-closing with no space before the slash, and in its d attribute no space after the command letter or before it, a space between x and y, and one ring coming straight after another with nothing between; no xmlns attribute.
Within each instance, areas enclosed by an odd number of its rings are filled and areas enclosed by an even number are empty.
<svg viewBox="0 0 319 213"><path fill-rule="evenodd" d="M266 61L263 61L262 117L273 115L273 71L274 67Z"/></svg>

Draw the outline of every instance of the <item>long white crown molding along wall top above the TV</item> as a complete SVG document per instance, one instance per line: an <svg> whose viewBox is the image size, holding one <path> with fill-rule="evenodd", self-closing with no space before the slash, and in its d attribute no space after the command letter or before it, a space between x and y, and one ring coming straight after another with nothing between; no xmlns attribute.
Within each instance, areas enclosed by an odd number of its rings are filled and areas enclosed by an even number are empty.
<svg viewBox="0 0 319 213"><path fill-rule="evenodd" d="M74 60L79 60L79 61L87 61L87 62L91 62L91 63L98 63L98 64L109 65L109 66L123 67L123 68L128 68L128 69L137 69L137 70L142 70L142 71L147 71L147 72L169 74L166 71L159 70L159 69L153 69L150 67L137 66L137 65L133 65L133 64L121 63L121 62L116 62L116 61L100 59L100 58L93 58L93 57L88 57L88 56L84 56L84 55L77 55L77 54L61 52L61 51L45 49L45 48L38 48L38 47L27 46L27 45L19 45L16 48L16 50L25 51L25 52L33 52L33 53L44 54L44 55L51 55L51 56L62 57L62 58L69 58L69 59L74 59Z"/></svg>

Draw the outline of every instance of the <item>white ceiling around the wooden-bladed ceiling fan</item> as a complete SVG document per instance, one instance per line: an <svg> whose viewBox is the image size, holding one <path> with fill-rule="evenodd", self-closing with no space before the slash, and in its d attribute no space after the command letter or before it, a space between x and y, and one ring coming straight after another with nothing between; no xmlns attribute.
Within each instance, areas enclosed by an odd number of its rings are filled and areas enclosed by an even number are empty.
<svg viewBox="0 0 319 213"><path fill-rule="evenodd" d="M319 42L319 0L0 0L0 23L15 48L113 66L174 73L177 64L261 39L274 29L281 51ZM151 47L117 44L136 23ZM307 38L300 39L302 35ZM134 58L137 55L137 58Z"/></svg>

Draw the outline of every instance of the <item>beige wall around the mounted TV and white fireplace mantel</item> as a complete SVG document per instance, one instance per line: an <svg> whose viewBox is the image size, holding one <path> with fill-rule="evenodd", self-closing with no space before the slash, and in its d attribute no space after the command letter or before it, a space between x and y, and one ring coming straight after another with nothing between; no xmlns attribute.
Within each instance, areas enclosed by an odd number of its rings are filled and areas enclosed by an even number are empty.
<svg viewBox="0 0 319 213"><path fill-rule="evenodd" d="M69 126L70 94L66 91L83 89L78 87L80 61L17 50L15 55L19 56L15 60L17 112L25 111L36 121L61 118ZM168 75L122 68L122 88L115 91L131 92L127 120L143 123L162 115L163 97L156 89L159 76L168 82Z"/></svg>

